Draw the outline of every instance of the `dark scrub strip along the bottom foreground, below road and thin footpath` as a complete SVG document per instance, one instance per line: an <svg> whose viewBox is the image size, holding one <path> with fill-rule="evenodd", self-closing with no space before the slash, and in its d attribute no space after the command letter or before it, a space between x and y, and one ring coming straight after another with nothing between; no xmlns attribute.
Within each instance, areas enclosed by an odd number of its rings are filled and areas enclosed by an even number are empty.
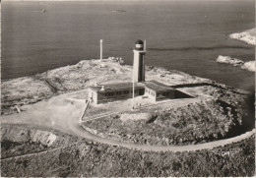
<svg viewBox="0 0 256 178"><path fill-rule="evenodd" d="M255 171L255 137L223 148L148 152L90 142L3 159L2 176L245 177Z"/></svg>

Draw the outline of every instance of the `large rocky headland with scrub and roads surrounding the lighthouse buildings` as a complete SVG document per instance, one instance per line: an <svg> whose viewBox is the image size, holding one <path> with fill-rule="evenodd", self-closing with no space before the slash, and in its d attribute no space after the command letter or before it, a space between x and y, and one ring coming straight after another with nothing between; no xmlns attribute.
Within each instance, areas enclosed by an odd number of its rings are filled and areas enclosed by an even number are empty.
<svg viewBox="0 0 256 178"><path fill-rule="evenodd" d="M254 93L146 66L146 80L192 97L85 109L89 86L131 73L108 58L3 81L2 176L254 175Z"/></svg>

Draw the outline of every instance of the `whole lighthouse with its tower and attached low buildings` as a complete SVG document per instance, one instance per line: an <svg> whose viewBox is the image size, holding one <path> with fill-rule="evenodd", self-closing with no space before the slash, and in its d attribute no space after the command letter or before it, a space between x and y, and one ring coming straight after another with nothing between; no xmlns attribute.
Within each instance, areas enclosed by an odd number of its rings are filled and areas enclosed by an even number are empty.
<svg viewBox="0 0 256 178"><path fill-rule="evenodd" d="M104 83L89 87L91 103L99 104L145 95L154 102L175 98L175 89L157 81L145 81L145 43L135 42L133 60L133 81Z"/></svg>

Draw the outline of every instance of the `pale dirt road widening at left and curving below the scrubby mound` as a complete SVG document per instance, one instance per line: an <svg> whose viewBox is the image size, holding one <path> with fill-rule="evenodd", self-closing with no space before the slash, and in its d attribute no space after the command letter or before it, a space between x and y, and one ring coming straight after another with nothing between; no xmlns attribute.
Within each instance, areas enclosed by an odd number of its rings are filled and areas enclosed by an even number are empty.
<svg viewBox="0 0 256 178"><path fill-rule="evenodd" d="M57 129L64 133L72 134L81 138L86 138L101 144L124 148L142 149L146 151L194 151L205 148L211 149L242 141L255 134L254 129L234 138L190 146L147 146L109 140L100 138L82 128L80 125L80 116L84 111L83 108L85 107L85 103L69 103L65 101L65 99L71 97L72 94L74 94L74 92L53 96L48 101L40 101L32 104L28 106L27 111L1 117L1 123L30 124L35 127L44 126ZM187 102L183 103L183 105L184 104L187 104Z"/></svg>

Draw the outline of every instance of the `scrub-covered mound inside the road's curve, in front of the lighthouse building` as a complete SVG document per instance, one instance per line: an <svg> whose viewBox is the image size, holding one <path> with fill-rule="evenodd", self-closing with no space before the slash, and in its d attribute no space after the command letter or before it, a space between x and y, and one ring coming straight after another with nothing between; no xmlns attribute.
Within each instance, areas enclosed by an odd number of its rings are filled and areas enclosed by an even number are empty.
<svg viewBox="0 0 256 178"><path fill-rule="evenodd" d="M241 110L220 99L151 113L121 113L84 123L85 128L100 137L163 146L233 137L233 130L241 125Z"/></svg>

